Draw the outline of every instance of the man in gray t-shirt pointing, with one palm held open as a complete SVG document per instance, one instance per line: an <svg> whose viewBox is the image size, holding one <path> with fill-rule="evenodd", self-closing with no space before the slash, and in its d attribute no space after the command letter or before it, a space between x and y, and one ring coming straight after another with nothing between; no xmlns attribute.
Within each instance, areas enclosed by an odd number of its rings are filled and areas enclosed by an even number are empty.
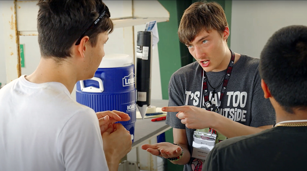
<svg viewBox="0 0 307 171"><path fill-rule="evenodd" d="M216 143L272 128L276 123L270 101L264 98L259 59L232 52L223 8L216 2L193 3L178 30L196 62L177 70L169 82L166 124L174 143L145 144L142 149L200 171L203 161L191 157L193 132L216 131ZM179 113L178 113L179 112ZM182 154L182 155L181 155Z"/></svg>

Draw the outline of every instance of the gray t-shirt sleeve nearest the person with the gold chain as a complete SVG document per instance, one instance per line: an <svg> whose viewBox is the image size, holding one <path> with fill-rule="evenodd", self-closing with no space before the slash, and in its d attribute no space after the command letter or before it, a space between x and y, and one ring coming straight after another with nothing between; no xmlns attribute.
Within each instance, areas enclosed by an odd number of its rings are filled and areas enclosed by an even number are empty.
<svg viewBox="0 0 307 171"><path fill-rule="evenodd" d="M270 100L264 98L258 68L255 77L254 93L251 104L251 117L251 127L276 124L275 110Z"/></svg>

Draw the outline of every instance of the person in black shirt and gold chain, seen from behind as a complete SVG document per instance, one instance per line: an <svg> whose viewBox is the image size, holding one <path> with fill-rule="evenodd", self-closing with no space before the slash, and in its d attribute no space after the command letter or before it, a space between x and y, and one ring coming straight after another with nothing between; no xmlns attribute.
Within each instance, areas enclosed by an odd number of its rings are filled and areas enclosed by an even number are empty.
<svg viewBox="0 0 307 171"><path fill-rule="evenodd" d="M306 170L307 27L292 25L275 32L261 52L259 72L277 124L217 144L203 171Z"/></svg>

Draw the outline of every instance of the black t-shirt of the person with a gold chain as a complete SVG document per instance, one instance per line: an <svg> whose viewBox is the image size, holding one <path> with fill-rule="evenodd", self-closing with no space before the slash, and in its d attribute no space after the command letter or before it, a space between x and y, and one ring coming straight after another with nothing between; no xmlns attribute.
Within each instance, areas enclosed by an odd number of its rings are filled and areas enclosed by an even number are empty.
<svg viewBox="0 0 307 171"><path fill-rule="evenodd" d="M274 127L218 143L203 171L307 170L307 127Z"/></svg>

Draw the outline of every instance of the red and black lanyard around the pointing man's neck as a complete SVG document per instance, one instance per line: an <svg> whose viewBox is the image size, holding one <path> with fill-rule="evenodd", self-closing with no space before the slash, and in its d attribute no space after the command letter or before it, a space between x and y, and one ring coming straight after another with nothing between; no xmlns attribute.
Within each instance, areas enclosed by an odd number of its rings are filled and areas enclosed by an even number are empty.
<svg viewBox="0 0 307 171"><path fill-rule="evenodd" d="M220 95L220 101L219 101L219 104L217 105L215 112L218 112L218 108L221 105L221 101L222 101L222 98L223 98L224 93L226 91L226 87L227 87L227 84L228 84L228 81L229 81L229 78L230 78L231 70L232 70L233 64L235 63L235 53L232 52L231 50L230 50L230 52L231 52L231 59L230 59L230 62L228 64L226 74L223 78L223 85L222 85L222 91L221 91L221 95ZM203 101L204 101L204 105L205 105L206 110L211 111L212 103L211 103L211 101L209 101L208 80L207 80L206 76L207 76L206 72L203 70L203 72L201 72L201 77L203 78L203 89L202 89L203 97L204 97ZM213 95L214 95L214 93L215 93L215 89L213 90ZM202 102L201 102L200 105L202 106ZM213 131L214 130L212 130L211 132L213 132Z"/></svg>

